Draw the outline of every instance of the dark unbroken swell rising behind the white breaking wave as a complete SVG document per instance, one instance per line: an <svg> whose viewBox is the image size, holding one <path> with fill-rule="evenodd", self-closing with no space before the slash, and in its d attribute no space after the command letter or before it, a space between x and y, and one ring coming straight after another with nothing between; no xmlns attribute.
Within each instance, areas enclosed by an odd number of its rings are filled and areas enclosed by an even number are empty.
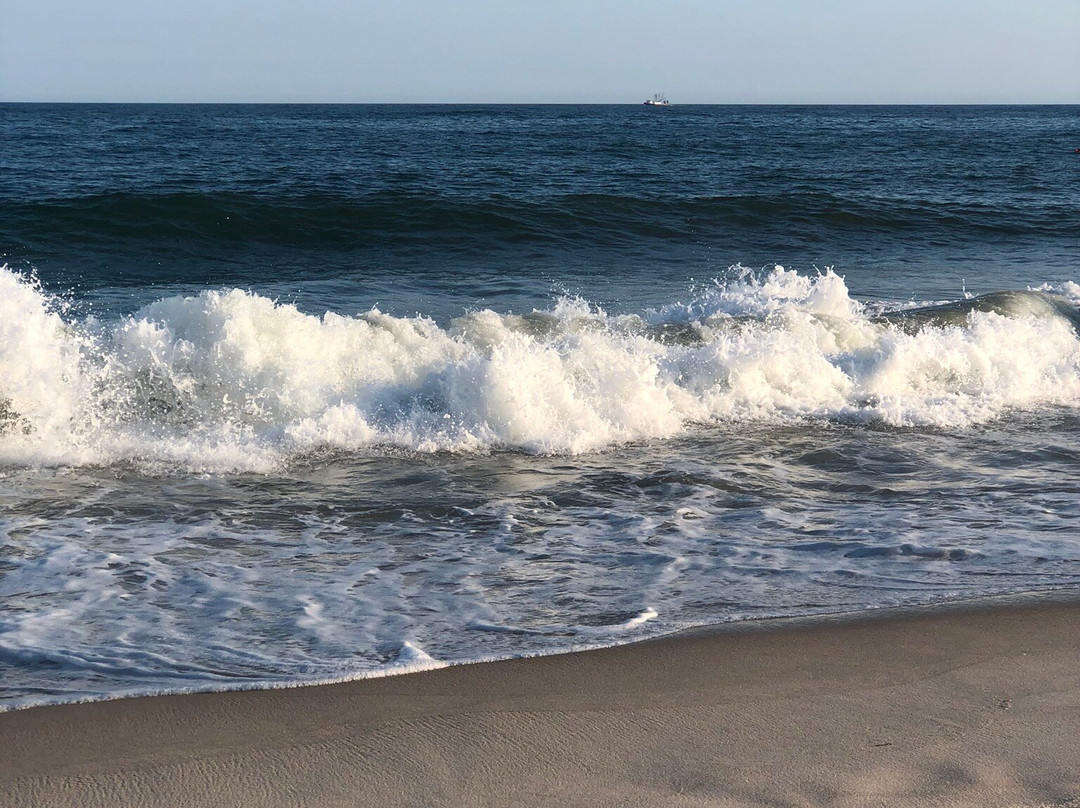
<svg viewBox="0 0 1080 808"><path fill-rule="evenodd" d="M270 243L334 247L378 244L633 244L753 229L804 233L1039 235L1072 238L1075 211L959 204L912 198L841 197L823 191L662 199L577 193L519 200L440 193L366 196L109 193L0 202L0 243L27 248L56 241L116 246L118 240Z"/></svg>

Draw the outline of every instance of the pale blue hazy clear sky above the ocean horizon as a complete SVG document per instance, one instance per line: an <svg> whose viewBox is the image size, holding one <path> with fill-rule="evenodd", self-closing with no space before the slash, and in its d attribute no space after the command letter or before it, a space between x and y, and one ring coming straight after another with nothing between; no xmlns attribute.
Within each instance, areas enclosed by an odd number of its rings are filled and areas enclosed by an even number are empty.
<svg viewBox="0 0 1080 808"><path fill-rule="evenodd" d="M0 0L0 100L1080 103L1078 0Z"/></svg>

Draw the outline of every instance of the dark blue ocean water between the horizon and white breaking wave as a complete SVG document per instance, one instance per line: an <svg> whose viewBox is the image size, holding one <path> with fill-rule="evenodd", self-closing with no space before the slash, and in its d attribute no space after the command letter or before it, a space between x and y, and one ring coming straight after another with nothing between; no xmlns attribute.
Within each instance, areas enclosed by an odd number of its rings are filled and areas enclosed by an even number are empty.
<svg viewBox="0 0 1080 808"><path fill-rule="evenodd" d="M0 112L0 252L119 307L234 285L312 310L632 309L734 264L896 299L1074 280L1077 107Z"/></svg>

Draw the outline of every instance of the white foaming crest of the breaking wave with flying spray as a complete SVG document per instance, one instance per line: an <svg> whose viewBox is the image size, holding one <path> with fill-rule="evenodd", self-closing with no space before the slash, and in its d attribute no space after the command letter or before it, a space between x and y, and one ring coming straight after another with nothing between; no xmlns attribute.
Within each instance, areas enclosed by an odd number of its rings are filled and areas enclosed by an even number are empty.
<svg viewBox="0 0 1080 808"><path fill-rule="evenodd" d="M272 471L325 448L573 454L725 421L966 427L1080 404L1066 286L882 310L832 271L777 267L642 315L564 298L446 324L314 317L228 289L103 322L3 268L0 462Z"/></svg>

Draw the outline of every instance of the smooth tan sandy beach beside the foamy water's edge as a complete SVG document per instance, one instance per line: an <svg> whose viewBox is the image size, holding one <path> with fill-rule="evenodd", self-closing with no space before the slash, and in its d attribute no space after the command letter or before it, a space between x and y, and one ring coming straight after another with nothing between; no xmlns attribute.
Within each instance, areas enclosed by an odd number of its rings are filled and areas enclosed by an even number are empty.
<svg viewBox="0 0 1080 808"><path fill-rule="evenodd" d="M1080 605L0 714L4 806L1080 805Z"/></svg>

